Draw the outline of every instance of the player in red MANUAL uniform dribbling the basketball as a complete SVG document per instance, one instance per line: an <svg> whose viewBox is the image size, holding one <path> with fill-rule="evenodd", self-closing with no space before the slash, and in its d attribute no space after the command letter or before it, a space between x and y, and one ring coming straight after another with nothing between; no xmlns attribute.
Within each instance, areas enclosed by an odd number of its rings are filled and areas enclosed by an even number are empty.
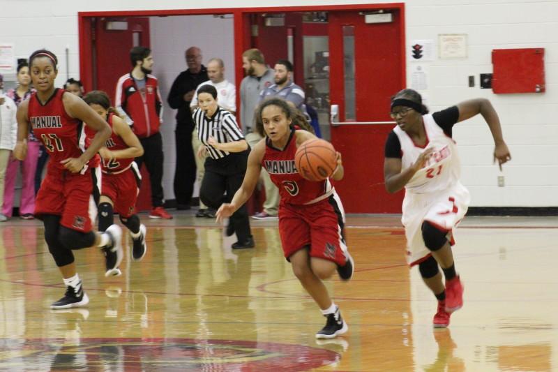
<svg viewBox="0 0 558 372"><path fill-rule="evenodd" d="M344 281L353 276L354 262L347 251L343 230L345 212L329 179L312 182L297 172L294 166L296 149L306 140L317 137L294 129L292 110L281 98L271 98L259 106L257 121L264 126L266 137L252 149L243 184L230 204L221 205L217 221L231 216L250 198L259 172L265 167L280 192L279 232L285 258L327 318L316 338L334 338L347 332L348 327L322 280L331 277L335 270ZM342 177L338 153L338 166L331 178Z"/></svg>

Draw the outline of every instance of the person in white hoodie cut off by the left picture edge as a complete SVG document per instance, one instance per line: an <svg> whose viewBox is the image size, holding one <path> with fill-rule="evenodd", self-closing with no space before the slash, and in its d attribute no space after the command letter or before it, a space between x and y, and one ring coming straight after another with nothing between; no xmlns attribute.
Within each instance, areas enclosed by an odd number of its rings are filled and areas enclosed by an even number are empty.
<svg viewBox="0 0 558 372"><path fill-rule="evenodd" d="M3 88L3 76L0 75L0 89ZM4 203L4 180L8 160L15 147L17 139L17 119L15 113L17 107L12 98L3 94L0 90L0 205ZM0 222L8 218L0 214Z"/></svg>

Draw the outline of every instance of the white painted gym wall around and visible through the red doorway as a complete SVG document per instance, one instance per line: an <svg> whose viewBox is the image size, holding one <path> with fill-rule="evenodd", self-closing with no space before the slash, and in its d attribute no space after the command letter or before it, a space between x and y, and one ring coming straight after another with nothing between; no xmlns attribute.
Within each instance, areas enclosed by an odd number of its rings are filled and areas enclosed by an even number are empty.
<svg viewBox="0 0 558 372"><path fill-rule="evenodd" d="M374 1L384 3L389 1ZM498 188L499 171L492 165L492 144L488 128L475 118L455 129L463 162L463 183L472 192L473 206L558 206L558 2L535 0L412 0L406 2L407 43L413 39L433 39L438 34L467 34L468 57L462 60L425 62L428 70L428 89L422 93L428 98L432 110L452 105L467 98L489 98L500 114L504 136L512 151L513 161L504 168L506 186ZM457 3L458 4L455 4ZM225 0L219 3L195 1L146 0L126 1L70 1L70 0L0 0L0 43L13 43L17 57L27 57L33 50L48 47L61 57L58 84L70 76L78 75L77 12L109 10L151 10L199 8L234 8L257 6L301 6L346 4L340 0ZM372 3L352 1L352 3ZM455 5L454 5L455 4ZM167 18L174 22L173 17ZM160 18L153 27L165 22ZM178 28L177 28L178 27ZM154 29L154 50L165 48L158 38L173 45L173 53L163 59L157 56L156 73L165 80L165 87L183 68L183 48L190 45L188 25L173 24L170 30L159 33ZM175 34L179 29L184 35ZM163 30L163 29L161 29ZM199 38L210 32L200 29ZM158 34L159 33L159 34ZM162 36L166 34L165 36ZM197 38L197 40L201 40ZM210 38L208 36L208 38ZM210 38L211 39L211 38ZM204 38L203 40L207 40ZM70 63L63 55L69 50ZM478 88L478 74L492 72L491 50L495 48L544 47L546 70L545 94L495 95L490 89ZM206 49L206 48L204 48ZM232 45L230 49L232 51ZM167 52L161 50L161 53ZM225 52L225 51L223 51ZM225 53L223 53L225 54ZM204 60L211 56L204 50ZM161 63L169 63L172 70L158 71ZM225 63L228 62L225 61ZM407 70L415 62L407 62ZM171 72L172 71L172 72ZM232 68L229 68L232 73ZM475 75L476 87L467 86L467 77ZM410 81L409 73L409 81ZM164 90L163 90L164 91ZM165 116L167 116L169 112ZM168 116L167 116L168 117ZM165 118L172 123L172 117ZM165 128L165 198L172 198L174 174L174 147L172 132Z"/></svg>

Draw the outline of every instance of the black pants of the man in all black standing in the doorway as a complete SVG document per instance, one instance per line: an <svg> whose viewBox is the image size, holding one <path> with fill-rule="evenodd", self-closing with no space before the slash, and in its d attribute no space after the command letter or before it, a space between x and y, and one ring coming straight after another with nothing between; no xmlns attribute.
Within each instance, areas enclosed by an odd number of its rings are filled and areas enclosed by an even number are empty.
<svg viewBox="0 0 558 372"><path fill-rule="evenodd" d="M176 168L174 170L174 197L177 205L190 205L196 181L196 160L192 148L192 126L176 124Z"/></svg>

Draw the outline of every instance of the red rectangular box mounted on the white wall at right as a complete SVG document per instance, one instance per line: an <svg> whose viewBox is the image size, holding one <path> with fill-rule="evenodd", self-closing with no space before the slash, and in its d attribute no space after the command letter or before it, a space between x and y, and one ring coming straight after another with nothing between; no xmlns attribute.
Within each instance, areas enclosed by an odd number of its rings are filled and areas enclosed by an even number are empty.
<svg viewBox="0 0 558 372"><path fill-rule="evenodd" d="M541 93L545 91L545 50L492 50L494 93Z"/></svg>

